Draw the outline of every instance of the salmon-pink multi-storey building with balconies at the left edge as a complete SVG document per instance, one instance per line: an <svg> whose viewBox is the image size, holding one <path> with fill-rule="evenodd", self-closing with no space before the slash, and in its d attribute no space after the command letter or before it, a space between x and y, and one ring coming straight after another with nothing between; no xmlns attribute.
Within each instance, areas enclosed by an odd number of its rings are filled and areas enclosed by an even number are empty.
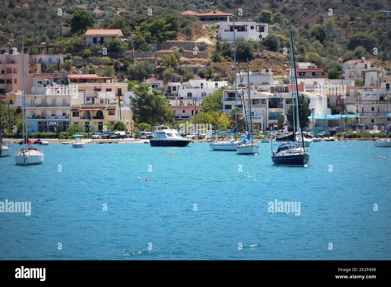
<svg viewBox="0 0 391 287"><path fill-rule="evenodd" d="M32 88L32 77L34 66L29 65L29 54L24 54L25 61L25 84L26 91ZM4 53L0 54L0 94L15 94L22 91L23 73L22 73L22 54Z"/></svg>

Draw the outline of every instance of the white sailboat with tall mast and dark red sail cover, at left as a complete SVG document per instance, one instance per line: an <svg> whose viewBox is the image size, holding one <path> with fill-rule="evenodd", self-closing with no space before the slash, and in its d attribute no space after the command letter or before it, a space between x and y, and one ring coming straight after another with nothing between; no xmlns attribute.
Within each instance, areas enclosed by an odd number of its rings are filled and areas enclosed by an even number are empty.
<svg viewBox="0 0 391 287"><path fill-rule="evenodd" d="M23 91L22 91L22 102L23 102L23 140L19 143L22 145L20 151L15 152L15 164L21 166L27 166L32 164L41 164L43 162L43 151L37 148L32 148L31 141L27 138L27 120L26 120L26 84L25 84L25 66L24 66L24 39L23 39L23 26L22 26L22 73L23 73Z"/></svg>

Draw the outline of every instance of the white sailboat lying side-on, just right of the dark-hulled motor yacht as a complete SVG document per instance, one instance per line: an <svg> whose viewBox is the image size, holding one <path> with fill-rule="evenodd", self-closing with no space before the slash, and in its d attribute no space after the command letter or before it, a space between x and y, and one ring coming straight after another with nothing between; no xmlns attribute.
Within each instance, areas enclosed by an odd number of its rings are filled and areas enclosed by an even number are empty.
<svg viewBox="0 0 391 287"><path fill-rule="evenodd" d="M237 139L238 132L238 105L237 105L237 84L236 84L236 39L235 39L235 22L233 22L233 60L235 62L235 128L232 132L220 132L216 133L214 139L212 138L209 144L209 147L212 150L231 150L234 151L237 147L239 141ZM219 138L219 135L222 138ZM233 137L232 135L235 135ZM228 138L226 137L228 136Z"/></svg>

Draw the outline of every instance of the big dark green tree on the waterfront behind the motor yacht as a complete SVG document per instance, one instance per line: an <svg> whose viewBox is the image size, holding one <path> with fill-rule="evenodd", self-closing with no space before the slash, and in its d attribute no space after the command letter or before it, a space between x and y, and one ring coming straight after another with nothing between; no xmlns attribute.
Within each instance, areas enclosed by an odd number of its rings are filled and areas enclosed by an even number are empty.
<svg viewBox="0 0 391 287"><path fill-rule="evenodd" d="M138 122L154 125L160 121L174 120L175 112L169 106L169 100L160 91L151 89L151 86L144 82L138 87L133 87L133 92L135 98L132 97L130 103Z"/></svg>

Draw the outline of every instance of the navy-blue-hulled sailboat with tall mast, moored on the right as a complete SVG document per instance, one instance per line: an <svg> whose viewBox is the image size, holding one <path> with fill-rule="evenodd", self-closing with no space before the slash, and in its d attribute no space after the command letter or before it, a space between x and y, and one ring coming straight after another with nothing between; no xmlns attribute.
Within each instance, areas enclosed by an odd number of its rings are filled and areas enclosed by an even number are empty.
<svg viewBox="0 0 391 287"><path fill-rule="evenodd" d="M271 143L271 159L273 164L278 166L308 166L310 161L310 154L304 146L303 127L301 124L301 112L299 92L296 78L296 66L293 54L293 41L292 41L292 29L291 23L289 23L289 34L291 40L291 80L292 80L292 103L295 103L294 98L296 96L296 103L292 105L292 118L293 118L293 133L285 137L276 137L275 142ZM294 78L293 78L294 75ZM294 85L294 83L296 85ZM296 92L294 92L294 86L296 86ZM295 109L296 120L295 125ZM298 136L300 140L296 141L296 127L298 129ZM276 148L277 147L277 148Z"/></svg>

